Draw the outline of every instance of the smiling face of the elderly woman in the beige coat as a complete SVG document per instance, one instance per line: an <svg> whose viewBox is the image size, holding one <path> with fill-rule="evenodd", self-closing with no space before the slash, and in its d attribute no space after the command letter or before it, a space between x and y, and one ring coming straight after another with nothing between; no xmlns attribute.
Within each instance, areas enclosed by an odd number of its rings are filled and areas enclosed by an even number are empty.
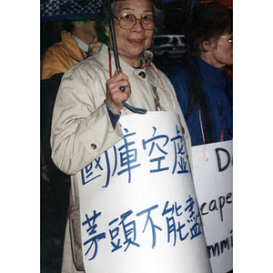
<svg viewBox="0 0 273 273"><path fill-rule="evenodd" d="M140 19L143 15L153 15L152 3L148 0L118 1L116 17L135 15ZM118 19L114 17L116 45L118 54L131 66L140 66L141 54L151 45L154 30L145 30L136 20L136 25L130 30L121 28Z"/></svg>

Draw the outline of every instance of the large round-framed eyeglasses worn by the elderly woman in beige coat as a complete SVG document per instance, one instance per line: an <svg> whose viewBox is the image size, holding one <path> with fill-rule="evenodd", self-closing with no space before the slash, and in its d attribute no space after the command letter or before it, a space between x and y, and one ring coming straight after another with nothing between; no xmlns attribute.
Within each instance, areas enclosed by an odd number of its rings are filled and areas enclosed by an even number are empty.
<svg viewBox="0 0 273 273"><path fill-rule="evenodd" d="M136 19L135 15L121 15L114 17L118 20L118 25L125 29L130 30L136 25L136 20L140 20L142 27L145 30L153 30L156 28L153 15L142 15L140 19Z"/></svg>

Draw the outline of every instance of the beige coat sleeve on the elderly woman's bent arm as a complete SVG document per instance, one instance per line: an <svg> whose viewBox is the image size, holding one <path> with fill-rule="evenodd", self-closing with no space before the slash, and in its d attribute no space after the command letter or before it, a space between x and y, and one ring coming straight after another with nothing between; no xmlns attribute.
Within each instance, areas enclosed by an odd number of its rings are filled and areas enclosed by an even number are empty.
<svg viewBox="0 0 273 273"><path fill-rule="evenodd" d="M56 96L52 158L56 167L68 175L86 167L123 136L118 122L116 129L113 128L103 103L106 82L89 76L82 76L80 69L70 69L63 76Z"/></svg>

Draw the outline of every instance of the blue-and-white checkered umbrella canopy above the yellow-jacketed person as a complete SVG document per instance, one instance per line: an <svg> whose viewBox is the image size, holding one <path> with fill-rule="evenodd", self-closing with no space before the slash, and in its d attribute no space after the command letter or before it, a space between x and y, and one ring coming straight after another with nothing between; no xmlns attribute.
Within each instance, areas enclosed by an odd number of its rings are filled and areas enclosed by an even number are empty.
<svg viewBox="0 0 273 273"><path fill-rule="evenodd" d="M96 18L102 0L47 0L40 4L41 21Z"/></svg>

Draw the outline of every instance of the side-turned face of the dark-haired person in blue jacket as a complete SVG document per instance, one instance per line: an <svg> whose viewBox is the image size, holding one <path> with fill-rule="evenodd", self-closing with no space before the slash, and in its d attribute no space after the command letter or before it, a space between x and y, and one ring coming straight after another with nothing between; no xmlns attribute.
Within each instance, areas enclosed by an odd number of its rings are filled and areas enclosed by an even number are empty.
<svg viewBox="0 0 273 273"><path fill-rule="evenodd" d="M228 42L224 36L227 39L233 39L233 34L222 35L217 42L207 45L207 47L204 45L207 52L200 56L208 64L218 68L222 68L224 65L233 65L233 43Z"/></svg>

